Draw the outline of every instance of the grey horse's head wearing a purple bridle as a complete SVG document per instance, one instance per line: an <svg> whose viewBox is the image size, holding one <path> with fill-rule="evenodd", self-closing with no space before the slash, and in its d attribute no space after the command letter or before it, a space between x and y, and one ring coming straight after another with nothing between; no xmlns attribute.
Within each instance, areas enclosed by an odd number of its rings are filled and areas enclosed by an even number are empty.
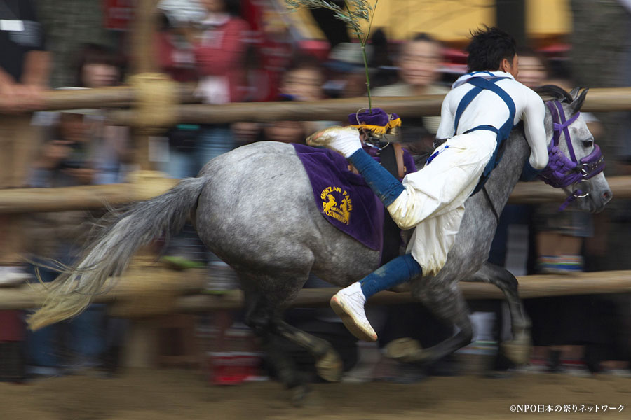
<svg viewBox="0 0 631 420"><path fill-rule="evenodd" d="M568 204L581 211L602 211L613 197L604 174L604 158L580 110L588 90L566 92L554 85L537 90L545 102L545 130L550 162L541 179L569 194Z"/></svg>

